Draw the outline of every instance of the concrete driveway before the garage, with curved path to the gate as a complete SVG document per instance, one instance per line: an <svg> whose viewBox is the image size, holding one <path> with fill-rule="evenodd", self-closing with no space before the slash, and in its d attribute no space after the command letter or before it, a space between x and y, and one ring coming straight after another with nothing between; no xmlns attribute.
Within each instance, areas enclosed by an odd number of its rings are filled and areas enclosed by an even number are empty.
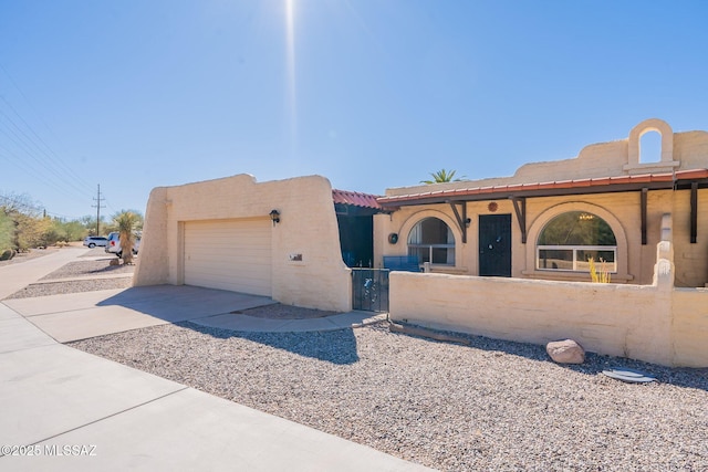
<svg viewBox="0 0 708 472"><path fill-rule="evenodd" d="M275 302L266 296L186 285L71 293L3 303L60 343L185 321L221 329L284 333L344 329L386 317L351 312L311 319L256 318L232 312Z"/></svg>

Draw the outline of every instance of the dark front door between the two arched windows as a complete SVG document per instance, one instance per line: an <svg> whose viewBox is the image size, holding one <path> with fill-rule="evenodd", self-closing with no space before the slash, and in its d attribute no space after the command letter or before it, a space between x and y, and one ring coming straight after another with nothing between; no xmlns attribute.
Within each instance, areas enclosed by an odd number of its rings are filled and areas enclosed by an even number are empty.
<svg viewBox="0 0 708 472"><path fill-rule="evenodd" d="M479 275L511 276L511 214L479 216Z"/></svg>

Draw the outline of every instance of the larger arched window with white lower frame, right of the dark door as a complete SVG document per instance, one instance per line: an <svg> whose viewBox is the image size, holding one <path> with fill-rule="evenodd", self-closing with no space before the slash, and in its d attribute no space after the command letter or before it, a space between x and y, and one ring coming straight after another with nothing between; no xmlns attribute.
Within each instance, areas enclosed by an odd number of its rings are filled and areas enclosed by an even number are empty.
<svg viewBox="0 0 708 472"><path fill-rule="evenodd" d="M596 214L569 211L553 218L537 244L537 269L590 271L589 260L617 271L617 240L610 224Z"/></svg>

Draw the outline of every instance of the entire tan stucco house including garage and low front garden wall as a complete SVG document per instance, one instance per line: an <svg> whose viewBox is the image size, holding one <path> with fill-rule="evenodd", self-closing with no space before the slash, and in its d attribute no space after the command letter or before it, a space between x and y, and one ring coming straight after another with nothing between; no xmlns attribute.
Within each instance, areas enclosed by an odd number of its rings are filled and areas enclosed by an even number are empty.
<svg viewBox="0 0 708 472"><path fill-rule="evenodd" d="M660 135L660 156L642 153ZM389 316L424 326L708 366L708 133L660 119L512 177L333 190L239 175L162 187L147 204L135 285L188 284L352 308L353 266L391 272ZM589 259L611 274L591 284Z"/></svg>

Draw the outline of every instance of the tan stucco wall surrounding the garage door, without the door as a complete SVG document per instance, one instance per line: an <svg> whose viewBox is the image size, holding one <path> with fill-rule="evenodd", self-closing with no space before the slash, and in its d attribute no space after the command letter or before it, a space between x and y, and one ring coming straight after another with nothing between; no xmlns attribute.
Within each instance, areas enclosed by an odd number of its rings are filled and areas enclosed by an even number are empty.
<svg viewBox="0 0 708 472"><path fill-rule="evenodd" d="M351 271L342 261L332 186L324 177L257 182L252 176L160 187L150 192L134 285L184 283L184 223L269 218L272 294L284 304L351 310ZM302 261L291 261L302 254Z"/></svg>

